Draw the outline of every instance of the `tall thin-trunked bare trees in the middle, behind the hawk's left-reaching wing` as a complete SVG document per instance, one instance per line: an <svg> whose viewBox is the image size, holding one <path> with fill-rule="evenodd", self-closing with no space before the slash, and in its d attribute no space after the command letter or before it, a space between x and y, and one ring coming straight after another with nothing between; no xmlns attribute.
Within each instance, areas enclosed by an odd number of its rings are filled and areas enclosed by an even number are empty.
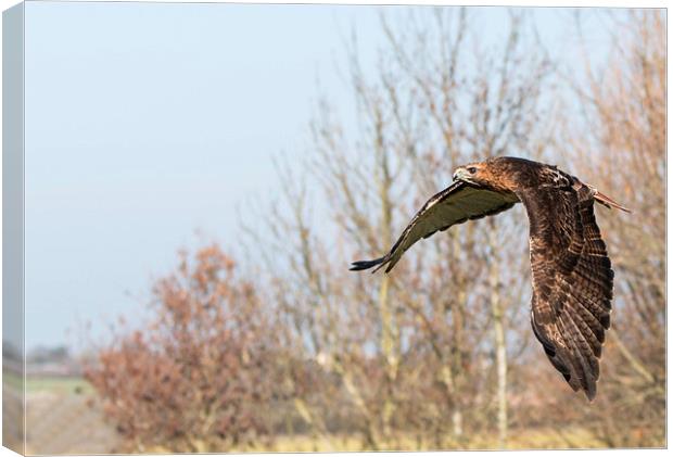
<svg viewBox="0 0 673 457"><path fill-rule="evenodd" d="M399 446L401 429L432 447L461 446L466 427L484 422L505 446L506 321L528 306L521 224L505 217L435 236L390 276L345 269L390 249L455 166L508 151L543 153L550 135L539 98L550 64L538 43L522 39L522 16L511 16L497 51L480 46L467 10L410 13L394 28L391 21L382 17L389 50L374 78L363 72L356 41L350 51L357 137L345 135L329 101L317 106L306 172L329 207L320 228L309 221L316 192L284 175L285 206L276 205L269 229L291 267L281 293L293 320L306 323L295 326L297 340L310 342L306 355L339 375L368 448ZM441 403L429 403L433 396Z"/></svg>

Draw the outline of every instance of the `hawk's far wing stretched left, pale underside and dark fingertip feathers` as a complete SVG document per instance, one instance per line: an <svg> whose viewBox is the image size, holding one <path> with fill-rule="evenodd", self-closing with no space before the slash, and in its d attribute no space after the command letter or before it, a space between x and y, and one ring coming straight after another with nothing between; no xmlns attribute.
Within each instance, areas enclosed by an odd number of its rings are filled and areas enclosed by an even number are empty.
<svg viewBox="0 0 673 457"><path fill-rule="evenodd" d="M517 202L519 199L513 193L494 192L456 181L426 202L388 254L373 261L354 262L351 270L377 267L376 271L388 265L385 272L389 272L402 255L421 238L428 238L436 231L446 230L469 219L500 213Z"/></svg>

